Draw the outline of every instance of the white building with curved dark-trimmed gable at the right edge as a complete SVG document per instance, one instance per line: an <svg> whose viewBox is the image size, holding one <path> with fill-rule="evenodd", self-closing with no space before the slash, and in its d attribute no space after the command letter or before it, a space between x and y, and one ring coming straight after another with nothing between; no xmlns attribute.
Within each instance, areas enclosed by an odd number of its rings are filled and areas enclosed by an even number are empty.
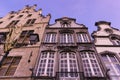
<svg viewBox="0 0 120 80"><path fill-rule="evenodd" d="M99 21L98 30L92 33L98 54L108 70L110 80L120 80L120 30L110 22Z"/></svg>

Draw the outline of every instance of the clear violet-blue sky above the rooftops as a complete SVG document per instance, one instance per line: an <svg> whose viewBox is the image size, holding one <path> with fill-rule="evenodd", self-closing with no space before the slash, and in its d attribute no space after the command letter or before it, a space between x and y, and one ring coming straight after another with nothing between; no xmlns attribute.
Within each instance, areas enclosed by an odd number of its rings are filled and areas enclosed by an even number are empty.
<svg viewBox="0 0 120 80"><path fill-rule="evenodd" d="M0 17L34 4L43 15L51 14L50 24L57 18L70 17L88 27L90 33L97 30L97 21L111 22L112 27L120 29L120 0L2 0Z"/></svg>

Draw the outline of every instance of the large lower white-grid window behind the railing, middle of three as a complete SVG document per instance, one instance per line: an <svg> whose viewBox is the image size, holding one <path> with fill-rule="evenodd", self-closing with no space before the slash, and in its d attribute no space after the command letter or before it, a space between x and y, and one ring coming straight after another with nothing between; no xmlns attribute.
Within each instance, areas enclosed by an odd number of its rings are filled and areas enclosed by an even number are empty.
<svg viewBox="0 0 120 80"><path fill-rule="evenodd" d="M60 54L60 72L62 73L61 77L78 77L76 73L67 73L67 72L78 72L78 65L76 60L76 55L73 52L62 52Z"/></svg>

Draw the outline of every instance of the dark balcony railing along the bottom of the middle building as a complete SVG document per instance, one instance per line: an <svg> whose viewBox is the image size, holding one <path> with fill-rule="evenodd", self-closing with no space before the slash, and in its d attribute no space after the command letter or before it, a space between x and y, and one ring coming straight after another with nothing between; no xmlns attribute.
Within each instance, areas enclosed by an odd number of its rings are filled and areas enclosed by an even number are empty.
<svg viewBox="0 0 120 80"><path fill-rule="evenodd" d="M117 78L120 76L117 76ZM85 77L83 72L56 72L56 76L32 76L32 80L109 80L107 77Z"/></svg>

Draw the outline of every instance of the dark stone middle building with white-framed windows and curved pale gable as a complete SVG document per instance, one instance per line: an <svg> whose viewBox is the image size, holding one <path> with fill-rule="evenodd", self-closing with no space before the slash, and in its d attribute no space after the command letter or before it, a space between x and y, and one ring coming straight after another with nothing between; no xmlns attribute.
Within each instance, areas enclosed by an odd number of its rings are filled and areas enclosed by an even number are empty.
<svg viewBox="0 0 120 80"><path fill-rule="evenodd" d="M34 68L36 80L107 80L88 28L63 17L48 25Z"/></svg>

